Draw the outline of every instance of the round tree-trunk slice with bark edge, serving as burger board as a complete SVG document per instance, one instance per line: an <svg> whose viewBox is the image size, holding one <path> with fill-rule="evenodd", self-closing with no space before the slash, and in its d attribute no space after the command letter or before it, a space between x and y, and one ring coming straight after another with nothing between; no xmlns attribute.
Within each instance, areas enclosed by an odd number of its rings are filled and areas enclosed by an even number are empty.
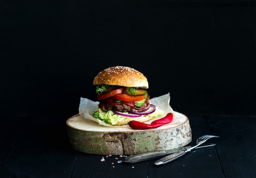
<svg viewBox="0 0 256 178"><path fill-rule="evenodd" d="M100 155L134 155L183 147L191 142L189 119L157 129L134 130L127 126L106 127L76 114L66 121L72 147L78 151Z"/></svg>

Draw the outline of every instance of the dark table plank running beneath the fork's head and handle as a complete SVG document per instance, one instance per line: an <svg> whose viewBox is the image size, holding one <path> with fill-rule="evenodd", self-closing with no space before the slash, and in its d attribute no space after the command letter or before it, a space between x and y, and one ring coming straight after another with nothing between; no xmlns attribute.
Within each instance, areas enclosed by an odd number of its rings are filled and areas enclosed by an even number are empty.
<svg viewBox="0 0 256 178"><path fill-rule="evenodd" d="M204 116L189 116L189 121L192 129L192 142L189 145L194 145L198 137L210 134ZM212 141L210 139L207 142ZM156 160L148 161L148 175L151 177L224 177L215 147L196 149L182 158L159 167L153 165Z"/></svg>

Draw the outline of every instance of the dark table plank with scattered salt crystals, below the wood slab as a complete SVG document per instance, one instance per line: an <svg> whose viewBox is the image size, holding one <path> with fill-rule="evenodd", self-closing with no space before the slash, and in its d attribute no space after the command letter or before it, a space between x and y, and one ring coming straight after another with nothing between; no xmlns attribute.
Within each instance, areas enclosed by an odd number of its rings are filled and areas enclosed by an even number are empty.
<svg viewBox="0 0 256 178"><path fill-rule="evenodd" d="M101 161L104 158L105 161ZM146 178L148 176L147 162L125 164L119 156L78 154L72 177L93 178ZM112 164L113 163L113 164Z"/></svg>

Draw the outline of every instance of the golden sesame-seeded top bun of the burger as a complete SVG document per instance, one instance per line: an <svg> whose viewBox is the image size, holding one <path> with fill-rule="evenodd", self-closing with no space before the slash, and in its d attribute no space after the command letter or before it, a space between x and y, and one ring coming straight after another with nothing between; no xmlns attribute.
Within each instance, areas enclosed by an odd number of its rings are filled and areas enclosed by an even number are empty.
<svg viewBox="0 0 256 178"><path fill-rule="evenodd" d="M142 73L133 68L124 66L109 67L101 71L94 78L92 84L148 88L148 80Z"/></svg>

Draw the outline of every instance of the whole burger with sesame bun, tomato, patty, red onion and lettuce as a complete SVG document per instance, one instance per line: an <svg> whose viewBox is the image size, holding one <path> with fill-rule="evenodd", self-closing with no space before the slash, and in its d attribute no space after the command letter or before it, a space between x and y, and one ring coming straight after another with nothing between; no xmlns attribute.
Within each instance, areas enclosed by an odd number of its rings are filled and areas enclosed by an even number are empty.
<svg viewBox="0 0 256 178"><path fill-rule="evenodd" d="M109 67L93 80L98 109L93 117L110 125L127 125L130 120L146 122L163 114L150 104L147 78L139 71L124 66Z"/></svg>

